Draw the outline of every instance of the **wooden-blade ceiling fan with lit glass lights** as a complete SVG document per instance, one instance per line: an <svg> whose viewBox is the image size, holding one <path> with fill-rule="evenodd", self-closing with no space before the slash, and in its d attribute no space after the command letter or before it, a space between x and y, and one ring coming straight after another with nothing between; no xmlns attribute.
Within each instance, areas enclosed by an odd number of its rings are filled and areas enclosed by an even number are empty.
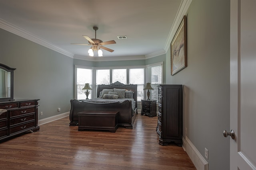
<svg viewBox="0 0 256 170"><path fill-rule="evenodd" d="M83 37L88 40L89 44L76 44L76 43L71 43L71 44L74 44L74 45L91 45L92 47L88 50L88 53L89 53L89 56L92 56L92 57L93 57L93 51L98 51L98 56L102 57L101 49L104 49L104 50L109 51L109 52L113 52L114 50L109 49L107 47L104 47L102 45L115 44L116 41L111 40L111 41L103 42L100 39L96 39L96 31L98 30L98 27L93 27L93 29L95 30L95 38L91 39L87 35L83 35Z"/></svg>

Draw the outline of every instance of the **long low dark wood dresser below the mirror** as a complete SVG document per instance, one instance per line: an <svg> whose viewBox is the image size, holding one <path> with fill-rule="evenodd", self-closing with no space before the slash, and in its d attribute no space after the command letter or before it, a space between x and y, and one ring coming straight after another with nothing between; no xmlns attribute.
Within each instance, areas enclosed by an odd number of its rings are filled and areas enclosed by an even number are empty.
<svg viewBox="0 0 256 170"><path fill-rule="evenodd" d="M19 135L26 131L39 131L38 100L1 101L0 109L0 141ZM2 110L3 111L3 110Z"/></svg>

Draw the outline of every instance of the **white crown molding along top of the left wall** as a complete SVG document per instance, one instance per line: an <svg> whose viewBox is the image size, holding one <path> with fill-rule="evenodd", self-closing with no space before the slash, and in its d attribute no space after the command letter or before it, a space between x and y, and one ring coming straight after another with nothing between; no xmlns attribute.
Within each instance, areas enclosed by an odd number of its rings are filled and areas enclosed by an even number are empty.
<svg viewBox="0 0 256 170"><path fill-rule="evenodd" d="M17 27L16 25L13 25L12 23L9 23L5 20L2 20L1 18L0 18L0 28L4 29L6 31L9 31L11 33L14 33L14 34L16 34L20 37L25 38L25 39L28 39L28 40L30 40L34 43L37 43L39 45L42 45L42 46L47 47L49 49L52 49L52 50L54 50L58 53L66 55L68 57L73 58L73 56L74 56L74 54L70 53L69 51L66 51L66 50L64 50L64 49L62 49L62 48L44 40L44 39L42 39L42 38L40 38L36 35L33 35L32 33L28 32L28 31L26 31L26 30L24 30L20 27Z"/></svg>

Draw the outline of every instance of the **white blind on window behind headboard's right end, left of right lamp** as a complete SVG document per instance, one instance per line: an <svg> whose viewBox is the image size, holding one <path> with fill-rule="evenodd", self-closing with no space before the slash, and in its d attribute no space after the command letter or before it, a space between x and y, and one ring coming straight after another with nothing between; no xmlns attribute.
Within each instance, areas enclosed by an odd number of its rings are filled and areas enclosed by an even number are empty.
<svg viewBox="0 0 256 170"><path fill-rule="evenodd" d="M144 68L129 69L129 84L137 84L137 101L144 99Z"/></svg>

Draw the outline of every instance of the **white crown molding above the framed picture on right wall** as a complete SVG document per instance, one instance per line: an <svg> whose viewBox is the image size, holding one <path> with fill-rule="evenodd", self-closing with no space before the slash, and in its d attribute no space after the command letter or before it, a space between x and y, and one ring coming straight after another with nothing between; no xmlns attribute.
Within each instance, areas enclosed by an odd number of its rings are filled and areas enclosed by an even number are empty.
<svg viewBox="0 0 256 170"><path fill-rule="evenodd" d="M172 42L172 39L180 25L180 22L182 21L183 16L186 16L188 13L188 8L191 4L192 0L182 0L180 3L179 10L176 14L176 17L174 19L174 23L172 24L172 27L170 29L170 33L168 35L168 39L166 40L164 50L167 52L168 48L170 47L170 44Z"/></svg>

